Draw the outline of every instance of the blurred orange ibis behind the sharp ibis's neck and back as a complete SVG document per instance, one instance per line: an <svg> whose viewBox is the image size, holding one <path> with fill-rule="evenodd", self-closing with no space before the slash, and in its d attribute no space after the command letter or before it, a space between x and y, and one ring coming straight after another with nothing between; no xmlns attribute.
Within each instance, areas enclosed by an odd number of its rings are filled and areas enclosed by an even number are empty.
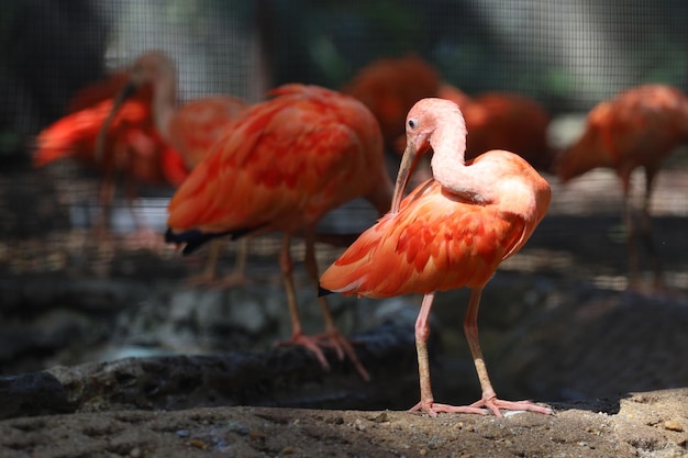
<svg viewBox="0 0 688 458"><path fill-rule="evenodd" d="M466 159L490 149L507 149L537 169L551 167L550 115L533 99L513 92L485 92L470 98L446 83L441 86L439 97L452 100L464 113L468 130Z"/></svg>

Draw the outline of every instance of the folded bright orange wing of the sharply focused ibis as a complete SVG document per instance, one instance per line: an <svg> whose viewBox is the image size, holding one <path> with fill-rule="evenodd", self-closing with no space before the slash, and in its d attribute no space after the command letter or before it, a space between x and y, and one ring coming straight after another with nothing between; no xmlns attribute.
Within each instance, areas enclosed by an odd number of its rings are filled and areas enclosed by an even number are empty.
<svg viewBox="0 0 688 458"><path fill-rule="evenodd" d="M429 180L363 235L321 277L322 288L389 298L485 284L515 253L525 221L448 199Z"/></svg>

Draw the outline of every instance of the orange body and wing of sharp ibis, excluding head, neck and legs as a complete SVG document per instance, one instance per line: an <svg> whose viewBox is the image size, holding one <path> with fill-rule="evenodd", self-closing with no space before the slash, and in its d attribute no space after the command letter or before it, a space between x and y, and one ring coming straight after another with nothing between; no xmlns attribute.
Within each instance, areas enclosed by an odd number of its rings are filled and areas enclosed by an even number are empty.
<svg viewBox="0 0 688 458"><path fill-rule="evenodd" d="M547 182L520 156L488 152L468 166L499 177L497 200L475 203L431 179L322 275L323 289L389 298L482 287L525 244L550 205ZM478 170L479 169L479 170Z"/></svg>

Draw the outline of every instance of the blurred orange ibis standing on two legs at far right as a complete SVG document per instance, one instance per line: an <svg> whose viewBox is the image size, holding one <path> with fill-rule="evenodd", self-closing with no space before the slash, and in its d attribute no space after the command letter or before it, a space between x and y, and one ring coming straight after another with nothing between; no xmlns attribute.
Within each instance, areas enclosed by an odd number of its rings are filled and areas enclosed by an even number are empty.
<svg viewBox="0 0 688 458"><path fill-rule="evenodd" d="M557 158L562 182L597 167L617 171L623 189L632 288L639 287L640 267L630 201L631 172L636 167L645 169L641 237L651 258L655 287L662 289L664 281L652 242L650 203L662 161L683 143L688 143L688 99L676 88L645 85L595 107L588 114L581 137Z"/></svg>

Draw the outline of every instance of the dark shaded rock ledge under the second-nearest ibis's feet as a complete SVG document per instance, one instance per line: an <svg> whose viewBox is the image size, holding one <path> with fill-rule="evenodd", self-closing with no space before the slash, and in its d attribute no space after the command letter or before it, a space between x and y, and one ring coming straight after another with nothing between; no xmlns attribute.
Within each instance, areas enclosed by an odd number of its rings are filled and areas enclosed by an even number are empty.
<svg viewBox="0 0 688 458"><path fill-rule="evenodd" d="M417 402L412 327L389 324L355 336L354 343L373 377L369 383L331 351L331 370L324 372L314 357L292 346L124 358L2 377L0 418L245 404L375 409Z"/></svg>

